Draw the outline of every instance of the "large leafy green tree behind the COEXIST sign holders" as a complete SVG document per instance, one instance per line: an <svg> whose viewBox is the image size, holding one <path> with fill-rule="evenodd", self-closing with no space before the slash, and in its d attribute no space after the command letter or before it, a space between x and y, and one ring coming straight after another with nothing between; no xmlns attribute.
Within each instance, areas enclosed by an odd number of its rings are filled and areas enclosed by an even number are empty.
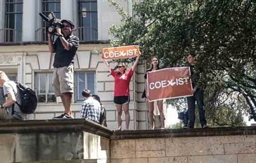
<svg viewBox="0 0 256 163"><path fill-rule="evenodd" d="M122 15L110 28L113 46L139 45L142 58L157 55L164 67L184 66L187 55L196 54L209 116L233 109L256 121L255 1L135 1L132 16L109 2Z"/></svg>

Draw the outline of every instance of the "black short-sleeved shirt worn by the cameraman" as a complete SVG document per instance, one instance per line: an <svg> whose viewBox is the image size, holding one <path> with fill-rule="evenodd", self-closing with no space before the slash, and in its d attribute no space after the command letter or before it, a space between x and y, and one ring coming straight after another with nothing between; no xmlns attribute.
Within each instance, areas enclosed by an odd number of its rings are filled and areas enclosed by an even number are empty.
<svg viewBox="0 0 256 163"><path fill-rule="evenodd" d="M66 50L58 37L53 43L53 48L55 49L53 67L59 68L74 64L74 57L79 46L79 38L70 35L65 37L65 39L68 41L69 45L71 45L71 49Z"/></svg>

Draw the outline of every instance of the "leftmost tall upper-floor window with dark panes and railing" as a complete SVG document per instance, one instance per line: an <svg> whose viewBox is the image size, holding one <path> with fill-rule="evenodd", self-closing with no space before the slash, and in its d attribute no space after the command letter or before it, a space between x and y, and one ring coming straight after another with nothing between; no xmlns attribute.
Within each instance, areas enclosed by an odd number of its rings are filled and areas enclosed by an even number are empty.
<svg viewBox="0 0 256 163"><path fill-rule="evenodd" d="M5 29L1 30L5 42L22 41L23 0L5 0Z"/></svg>

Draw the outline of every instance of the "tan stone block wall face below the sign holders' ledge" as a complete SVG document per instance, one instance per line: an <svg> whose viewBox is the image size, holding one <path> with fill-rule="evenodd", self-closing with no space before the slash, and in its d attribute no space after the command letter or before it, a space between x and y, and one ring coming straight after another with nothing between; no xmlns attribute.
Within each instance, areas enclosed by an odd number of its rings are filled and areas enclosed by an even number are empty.
<svg viewBox="0 0 256 163"><path fill-rule="evenodd" d="M255 163L256 132L251 131L253 135L250 135L240 129L176 130L180 133L175 130L137 132L140 138L135 138L135 133L126 132L117 136L116 140L112 137L111 162ZM163 138L154 138L153 133Z"/></svg>

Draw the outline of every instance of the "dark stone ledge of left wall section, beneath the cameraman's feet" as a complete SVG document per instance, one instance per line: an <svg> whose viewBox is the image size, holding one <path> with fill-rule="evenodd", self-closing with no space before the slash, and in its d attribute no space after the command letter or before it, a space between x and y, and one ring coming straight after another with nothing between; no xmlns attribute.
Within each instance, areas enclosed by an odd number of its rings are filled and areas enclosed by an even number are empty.
<svg viewBox="0 0 256 163"><path fill-rule="evenodd" d="M0 134L24 134L46 132L90 132L110 138L113 131L85 119L51 119L28 121L0 121Z"/></svg>

